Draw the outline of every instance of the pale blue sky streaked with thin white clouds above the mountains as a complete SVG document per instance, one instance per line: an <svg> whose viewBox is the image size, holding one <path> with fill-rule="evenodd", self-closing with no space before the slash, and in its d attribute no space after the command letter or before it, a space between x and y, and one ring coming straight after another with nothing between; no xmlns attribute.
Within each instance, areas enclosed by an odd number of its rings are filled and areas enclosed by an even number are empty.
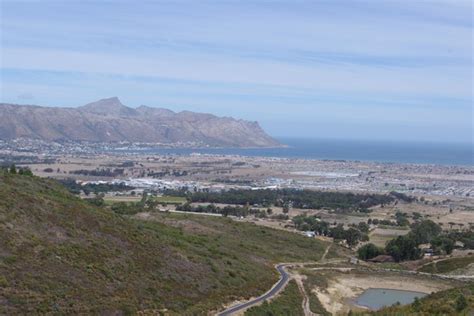
<svg viewBox="0 0 474 316"><path fill-rule="evenodd" d="M0 102L117 96L276 137L473 140L469 0L0 3Z"/></svg>

